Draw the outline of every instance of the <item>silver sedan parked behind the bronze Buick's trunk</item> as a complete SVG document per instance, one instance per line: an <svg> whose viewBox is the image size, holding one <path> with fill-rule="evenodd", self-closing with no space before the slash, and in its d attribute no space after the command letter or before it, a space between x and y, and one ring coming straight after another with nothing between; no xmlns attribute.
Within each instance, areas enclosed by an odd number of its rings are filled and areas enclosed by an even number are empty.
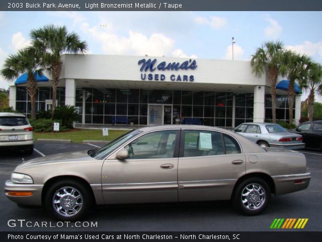
<svg viewBox="0 0 322 242"><path fill-rule="evenodd" d="M261 147L278 147L286 149L303 149L303 137L290 133L282 126L272 123L244 123L237 126L234 132L254 141Z"/></svg>

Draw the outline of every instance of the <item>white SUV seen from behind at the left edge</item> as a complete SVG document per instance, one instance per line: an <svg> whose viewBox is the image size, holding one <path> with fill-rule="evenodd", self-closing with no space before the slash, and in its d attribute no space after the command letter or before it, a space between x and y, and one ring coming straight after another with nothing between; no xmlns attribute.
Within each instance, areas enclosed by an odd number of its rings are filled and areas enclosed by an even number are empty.
<svg viewBox="0 0 322 242"><path fill-rule="evenodd" d="M0 149L34 151L34 135L27 117L21 113L0 112Z"/></svg>

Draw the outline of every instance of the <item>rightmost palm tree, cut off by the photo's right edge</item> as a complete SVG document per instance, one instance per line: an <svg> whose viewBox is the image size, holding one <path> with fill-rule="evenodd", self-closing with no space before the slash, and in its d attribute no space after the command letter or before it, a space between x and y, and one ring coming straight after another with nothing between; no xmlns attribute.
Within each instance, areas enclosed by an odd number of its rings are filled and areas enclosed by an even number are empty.
<svg viewBox="0 0 322 242"><path fill-rule="evenodd" d="M307 66L307 78L299 82L300 87L309 92L306 99L308 120L313 120L315 93L322 96L322 65L309 63Z"/></svg>

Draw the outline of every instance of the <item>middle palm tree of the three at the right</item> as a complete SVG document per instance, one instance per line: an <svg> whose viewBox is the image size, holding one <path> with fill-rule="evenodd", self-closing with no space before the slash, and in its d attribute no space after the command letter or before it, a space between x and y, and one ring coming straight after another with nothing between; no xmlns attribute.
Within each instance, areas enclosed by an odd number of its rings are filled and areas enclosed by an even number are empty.
<svg viewBox="0 0 322 242"><path fill-rule="evenodd" d="M311 58L305 54L300 55L294 51L285 52L285 64L287 65L287 79L289 86L287 89L288 94L288 111L289 111L289 124L293 123L293 104L294 104L294 85L295 81L305 82L307 78L307 67L312 62Z"/></svg>

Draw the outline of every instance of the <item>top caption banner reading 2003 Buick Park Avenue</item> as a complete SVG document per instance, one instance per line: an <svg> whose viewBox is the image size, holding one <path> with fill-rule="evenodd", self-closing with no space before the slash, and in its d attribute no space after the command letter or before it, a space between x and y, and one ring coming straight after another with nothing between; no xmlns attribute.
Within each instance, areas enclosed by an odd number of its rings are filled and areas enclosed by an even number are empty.
<svg viewBox="0 0 322 242"><path fill-rule="evenodd" d="M7 0L0 11L321 11L320 0Z"/></svg>

